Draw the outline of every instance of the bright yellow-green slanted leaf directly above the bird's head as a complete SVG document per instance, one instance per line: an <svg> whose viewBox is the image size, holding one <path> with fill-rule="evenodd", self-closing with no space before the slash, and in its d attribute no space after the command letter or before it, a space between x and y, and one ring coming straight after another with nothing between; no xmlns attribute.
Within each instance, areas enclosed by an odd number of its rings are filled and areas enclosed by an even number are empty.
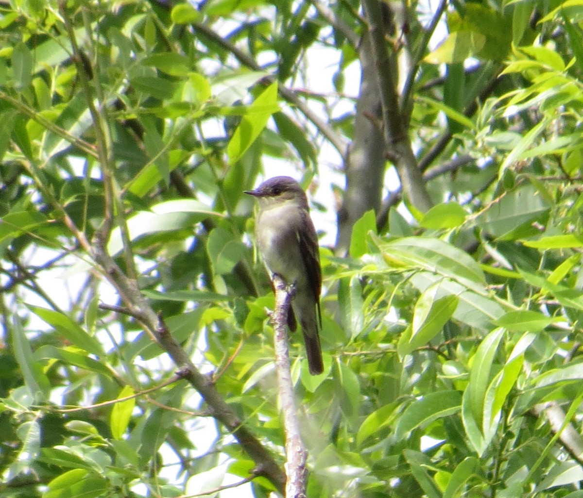
<svg viewBox="0 0 583 498"><path fill-rule="evenodd" d="M227 145L227 154L231 164L236 163L263 131L269 116L273 114L273 105L278 99L277 82L269 85L249 107L249 114L243 116Z"/></svg>

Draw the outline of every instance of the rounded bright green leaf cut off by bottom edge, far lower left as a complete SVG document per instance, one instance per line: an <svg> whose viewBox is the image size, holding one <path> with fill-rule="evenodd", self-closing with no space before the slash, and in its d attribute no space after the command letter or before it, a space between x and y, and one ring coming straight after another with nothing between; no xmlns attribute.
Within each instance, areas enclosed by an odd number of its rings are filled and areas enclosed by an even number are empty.
<svg viewBox="0 0 583 498"><path fill-rule="evenodd" d="M54 478L43 498L98 498L107 495L105 478L85 469L73 469Z"/></svg>

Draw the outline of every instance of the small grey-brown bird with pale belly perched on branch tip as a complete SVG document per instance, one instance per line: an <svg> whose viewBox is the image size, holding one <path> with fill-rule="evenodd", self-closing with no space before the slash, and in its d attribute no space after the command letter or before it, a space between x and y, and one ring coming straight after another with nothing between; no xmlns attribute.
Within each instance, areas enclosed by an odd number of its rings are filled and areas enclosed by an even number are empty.
<svg viewBox="0 0 583 498"><path fill-rule="evenodd" d="M318 335L322 270L318 236L304 190L289 176L275 176L245 193L259 202L255 239L265 267L272 277L277 274L287 285L294 285L296 294L287 324L295 331L296 318L300 322L310 373L318 375L324 371Z"/></svg>

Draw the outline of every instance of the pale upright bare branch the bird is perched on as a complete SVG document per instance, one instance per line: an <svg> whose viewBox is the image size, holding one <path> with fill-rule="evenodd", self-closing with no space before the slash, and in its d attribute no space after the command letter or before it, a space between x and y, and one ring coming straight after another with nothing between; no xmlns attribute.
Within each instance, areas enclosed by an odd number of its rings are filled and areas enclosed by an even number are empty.
<svg viewBox="0 0 583 498"><path fill-rule="evenodd" d="M273 277L275 287L275 312L273 328L275 341L275 365L278 371L279 404L283 415L286 439L286 498L306 496L308 469L305 462L308 452L300 436L296 399L291 382L290 356L287 347L287 313L292 293L279 276Z"/></svg>

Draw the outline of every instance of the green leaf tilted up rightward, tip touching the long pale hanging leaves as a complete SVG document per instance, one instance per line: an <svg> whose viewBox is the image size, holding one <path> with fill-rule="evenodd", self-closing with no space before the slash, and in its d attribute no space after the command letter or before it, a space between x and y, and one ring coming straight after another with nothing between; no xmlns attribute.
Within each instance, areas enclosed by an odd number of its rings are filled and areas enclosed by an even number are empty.
<svg viewBox="0 0 583 498"><path fill-rule="evenodd" d="M413 401L398 418L395 428L395 439L403 437L420 426L455 414L461 410L462 394L459 391L436 391L424 395L420 400Z"/></svg>

